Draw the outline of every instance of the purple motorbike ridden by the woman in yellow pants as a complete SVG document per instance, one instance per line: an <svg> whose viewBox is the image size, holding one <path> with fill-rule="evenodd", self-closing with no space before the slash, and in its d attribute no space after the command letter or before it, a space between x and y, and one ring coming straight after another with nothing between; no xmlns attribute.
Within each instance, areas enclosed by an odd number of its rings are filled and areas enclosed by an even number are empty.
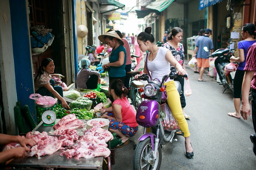
<svg viewBox="0 0 256 170"><path fill-rule="evenodd" d="M159 170L162 162L161 145L177 141L177 139L174 139L175 135L184 135L179 129L166 131L162 125L165 113L160 111L160 105L165 103L163 84L167 78L174 79L176 77L187 77L187 75L181 76L176 72L171 72L163 77L162 82L158 79L150 81L147 74L137 78L148 81L148 84L144 87L144 98L148 100L141 102L136 112L136 121L144 127L144 132L138 139L140 142L134 151L134 170ZM180 94L180 82L174 82ZM166 106L168 107L167 104Z"/></svg>

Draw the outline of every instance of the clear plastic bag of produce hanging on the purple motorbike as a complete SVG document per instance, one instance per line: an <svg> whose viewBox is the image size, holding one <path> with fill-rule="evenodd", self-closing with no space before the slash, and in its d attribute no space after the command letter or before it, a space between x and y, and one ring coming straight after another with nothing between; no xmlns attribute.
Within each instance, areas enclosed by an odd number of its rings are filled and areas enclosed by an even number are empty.
<svg viewBox="0 0 256 170"><path fill-rule="evenodd" d="M160 106L160 111L165 113L164 120L162 121L162 125L166 131L173 131L175 129L180 129L178 122L174 119L172 112L168 106L168 104L164 103Z"/></svg>

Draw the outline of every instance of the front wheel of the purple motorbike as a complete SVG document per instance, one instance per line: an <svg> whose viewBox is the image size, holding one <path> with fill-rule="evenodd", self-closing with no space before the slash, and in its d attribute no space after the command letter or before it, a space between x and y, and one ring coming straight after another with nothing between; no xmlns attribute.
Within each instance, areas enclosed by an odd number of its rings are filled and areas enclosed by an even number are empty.
<svg viewBox="0 0 256 170"><path fill-rule="evenodd" d="M161 162L161 147L158 147L156 159L153 160L153 152L150 137L138 143L133 156L134 170L159 170Z"/></svg>

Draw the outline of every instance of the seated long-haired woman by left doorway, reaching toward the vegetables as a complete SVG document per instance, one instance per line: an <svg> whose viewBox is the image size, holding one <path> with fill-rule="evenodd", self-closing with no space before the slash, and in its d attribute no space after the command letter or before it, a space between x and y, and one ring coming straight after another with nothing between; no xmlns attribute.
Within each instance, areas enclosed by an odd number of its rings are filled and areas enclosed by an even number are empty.
<svg viewBox="0 0 256 170"><path fill-rule="evenodd" d="M62 87L55 86L55 81L52 79L52 76L59 78L62 76L61 74L53 74L54 68L55 66L52 59L45 58L42 60L41 66L39 67L38 73L35 77L35 93L41 94L42 96L56 97L58 99L58 104L69 109L66 100L63 98Z"/></svg>

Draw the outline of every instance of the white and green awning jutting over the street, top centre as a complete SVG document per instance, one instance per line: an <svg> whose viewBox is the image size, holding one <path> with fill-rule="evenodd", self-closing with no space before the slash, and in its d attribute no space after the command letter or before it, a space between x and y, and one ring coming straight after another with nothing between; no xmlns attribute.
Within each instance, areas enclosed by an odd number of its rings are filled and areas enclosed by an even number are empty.
<svg viewBox="0 0 256 170"><path fill-rule="evenodd" d="M174 0L158 0L151 2L147 6L144 7L144 10L136 10L138 18L144 18L151 12L154 12L160 15L160 12L165 10L170 4L172 4Z"/></svg>

